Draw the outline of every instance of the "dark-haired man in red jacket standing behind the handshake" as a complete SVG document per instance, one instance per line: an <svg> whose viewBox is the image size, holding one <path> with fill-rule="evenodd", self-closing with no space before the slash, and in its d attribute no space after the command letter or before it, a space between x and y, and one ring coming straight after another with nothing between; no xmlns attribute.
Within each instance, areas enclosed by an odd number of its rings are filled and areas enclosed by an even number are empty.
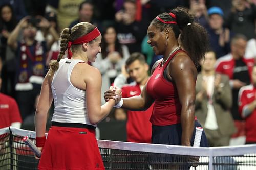
<svg viewBox="0 0 256 170"><path fill-rule="evenodd" d="M132 53L126 60L125 67L127 73L125 74L124 72L118 75L114 81L114 86L122 88L123 98L140 95L142 88L149 78L149 66L146 63L144 55L138 52ZM129 76L134 81L124 85ZM126 132L128 142L151 143L152 124L150 122L150 116L152 111L153 105L145 111L127 111Z"/></svg>

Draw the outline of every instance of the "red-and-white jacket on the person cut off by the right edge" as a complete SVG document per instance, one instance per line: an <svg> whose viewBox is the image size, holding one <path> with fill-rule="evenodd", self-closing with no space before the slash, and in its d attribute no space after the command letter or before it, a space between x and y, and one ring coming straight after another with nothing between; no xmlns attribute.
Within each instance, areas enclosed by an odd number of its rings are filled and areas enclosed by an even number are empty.
<svg viewBox="0 0 256 170"><path fill-rule="evenodd" d="M243 109L248 104L252 103L255 100L256 88L250 84L242 87L239 90L238 95L238 104L239 104L239 113L240 115L243 112ZM246 133L246 142L256 142L256 109L252 111L250 115L245 118L245 133Z"/></svg>

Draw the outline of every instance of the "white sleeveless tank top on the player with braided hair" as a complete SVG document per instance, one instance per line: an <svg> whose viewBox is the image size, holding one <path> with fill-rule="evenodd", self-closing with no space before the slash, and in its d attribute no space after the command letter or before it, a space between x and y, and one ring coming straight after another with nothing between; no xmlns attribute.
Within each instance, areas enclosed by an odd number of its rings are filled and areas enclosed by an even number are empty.
<svg viewBox="0 0 256 170"><path fill-rule="evenodd" d="M84 61L68 58L59 61L59 68L53 76L51 85L54 100L52 121L54 122L92 125L87 114L86 91L76 88L70 82L71 72L79 62Z"/></svg>

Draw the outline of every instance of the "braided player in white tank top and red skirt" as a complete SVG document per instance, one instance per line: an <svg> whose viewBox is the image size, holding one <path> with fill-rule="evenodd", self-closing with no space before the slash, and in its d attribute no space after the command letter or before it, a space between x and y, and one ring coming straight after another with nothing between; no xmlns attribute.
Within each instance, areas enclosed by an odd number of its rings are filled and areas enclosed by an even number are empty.
<svg viewBox="0 0 256 170"><path fill-rule="evenodd" d="M101 74L87 64L101 52L101 34L88 22L61 33L58 60L41 87L35 114L36 145L42 150L38 169L105 169L95 138L95 127L119 102L117 97L101 106ZM61 59L68 50L68 58ZM52 126L45 137L47 112L54 101Z"/></svg>

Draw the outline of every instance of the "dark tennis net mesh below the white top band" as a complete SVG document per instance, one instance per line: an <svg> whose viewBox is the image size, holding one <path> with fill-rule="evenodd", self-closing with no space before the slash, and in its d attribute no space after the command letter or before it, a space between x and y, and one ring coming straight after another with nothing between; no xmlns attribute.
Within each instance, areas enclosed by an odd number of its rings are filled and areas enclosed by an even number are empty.
<svg viewBox="0 0 256 170"><path fill-rule="evenodd" d="M12 132L9 130L5 133L0 133L0 169L37 169L38 160L34 158L33 151L22 141L25 136L23 133L18 133L19 130ZM25 131L26 132L26 131ZM30 132L31 133L31 132ZM34 132L33 132L34 133ZM30 137L30 140L35 143L35 139ZM129 144L123 149L117 149L120 142L113 141L108 147L102 147L99 143L99 149L102 156L106 169L194 169L191 165L195 164L195 160L199 159L196 164L197 170L199 169L209 169L209 170L254 170L256 169L256 145L252 145L252 150L250 154L245 154L245 152L239 152L243 154L238 154L236 149L233 149L235 156L201 156L200 152L195 152L195 156L191 154L184 154L186 148L181 153L183 154L162 154L162 153L152 153L152 152L141 152L134 151L134 149L129 148ZM104 146L104 145L103 145ZM113 147L114 146L114 147ZM123 143L122 143L123 146ZM143 151L147 151L147 145L143 145ZM162 150L163 146L154 146L155 151ZM238 147L239 148L239 147ZM138 147L137 147L138 149ZM211 148L215 150L215 148ZM223 148L218 150L218 152L225 154ZM133 150L133 151L132 151ZM247 149L248 151L248 149ZM168 152L170 150L168 149ZM170 152L172 153L172 152ZM205 153L208 153L208 149L205 149ZM218 154L222 155L222 154Z"/></svg>

